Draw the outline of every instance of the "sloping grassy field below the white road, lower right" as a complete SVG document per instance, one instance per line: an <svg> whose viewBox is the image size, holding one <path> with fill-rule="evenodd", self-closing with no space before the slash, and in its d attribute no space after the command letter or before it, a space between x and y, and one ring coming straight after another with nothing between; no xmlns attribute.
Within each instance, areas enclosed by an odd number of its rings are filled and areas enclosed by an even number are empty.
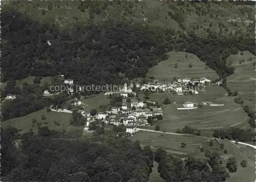
<svg viewBox="0 0 256 182"><path fill-rule="evenodd" d="M253 148L236 145L227 140L221 140L224 144L224 149L221 149L219 144L214 141L214 146L209 146L208 140L196 136L178 136L159 134L153 132L139 131L133 137L132 140L139 140L141 145L150 145L153 148L163 147L172 154L183 155L184 157L193 156L195 158L205 158L205 152L201 152L199 146L203 146L205 150L218 151L223 159L223 166L226 166L227 159L234 157L238 161L238 170L235 173L229 173L230 178L227 181L241 182L255 181L255 151ZM181 148L181 142L186 143L185 148ZM227 149L227 153L224 150ZM247 160L247 167L242 168L240 162Z"/></svg>

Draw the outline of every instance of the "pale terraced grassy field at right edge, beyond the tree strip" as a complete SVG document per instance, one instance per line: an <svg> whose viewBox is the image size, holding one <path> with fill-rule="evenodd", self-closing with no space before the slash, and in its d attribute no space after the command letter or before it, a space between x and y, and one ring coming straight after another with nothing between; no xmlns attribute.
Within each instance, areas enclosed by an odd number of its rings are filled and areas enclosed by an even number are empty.
<svg viewBox="0 0 256 182"><path fill-rule="evenodd" d="M252 58L251 61L248 59ZM239 64L240 60L244 60ZM242 97L245 104L254 108L255 105L255 67L253 62L256 61L256 56L249 51L243 51L243 55L237 54L227 58L227 63L234 66L234 73L227 77L226 85L232 91L237 90L238 95Z"/></svg>

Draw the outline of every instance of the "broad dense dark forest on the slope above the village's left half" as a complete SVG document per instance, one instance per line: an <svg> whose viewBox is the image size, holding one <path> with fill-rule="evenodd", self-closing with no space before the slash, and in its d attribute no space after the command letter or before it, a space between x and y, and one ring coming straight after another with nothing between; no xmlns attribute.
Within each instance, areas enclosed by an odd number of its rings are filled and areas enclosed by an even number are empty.
<svg viewBox="0 0 256 182"><path fill-rule="evenodd" d="M157 35L139 25L105 22L65 32L12 9L1 23L2 82L65 74L84 85L113 84L145 76L164 51Z"/></svg>

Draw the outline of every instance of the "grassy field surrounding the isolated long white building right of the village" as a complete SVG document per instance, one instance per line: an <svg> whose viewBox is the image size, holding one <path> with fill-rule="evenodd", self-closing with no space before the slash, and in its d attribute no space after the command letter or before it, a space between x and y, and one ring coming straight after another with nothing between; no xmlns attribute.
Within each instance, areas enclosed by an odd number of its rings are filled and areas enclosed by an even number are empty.
<svg viewBox="0 0 256 182"><path fill-rule="evenodd" d="M151 100L158 101L160 104L166 97L172 101L170 105L163 105L163 120L157 122L160 125L160 131L176 132L178 128L188 125L201 129L202 135L211 136L216 128L247 127L246 113L241 106L233 102L233 97L225 95L226 92L222 87L210 86L205 90L198 95L150 94ZM177 110L174 102L182 103L183 101L211 101L224 103L224 106L203 106L194 110ZM154 127L150 128L154 129Z"/></svg>

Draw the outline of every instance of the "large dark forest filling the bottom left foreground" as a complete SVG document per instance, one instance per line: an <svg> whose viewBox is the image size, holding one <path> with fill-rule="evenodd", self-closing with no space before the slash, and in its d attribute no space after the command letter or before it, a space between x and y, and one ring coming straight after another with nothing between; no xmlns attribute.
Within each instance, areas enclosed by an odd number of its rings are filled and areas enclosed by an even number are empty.
<svg viewBox="0 0 256 182"><path fill-rule="evenodd" d="M152 171L150 153L127 139L81 141L43 128L15 146L17 132L1 132L1 181L146 182Z"/></svg>

